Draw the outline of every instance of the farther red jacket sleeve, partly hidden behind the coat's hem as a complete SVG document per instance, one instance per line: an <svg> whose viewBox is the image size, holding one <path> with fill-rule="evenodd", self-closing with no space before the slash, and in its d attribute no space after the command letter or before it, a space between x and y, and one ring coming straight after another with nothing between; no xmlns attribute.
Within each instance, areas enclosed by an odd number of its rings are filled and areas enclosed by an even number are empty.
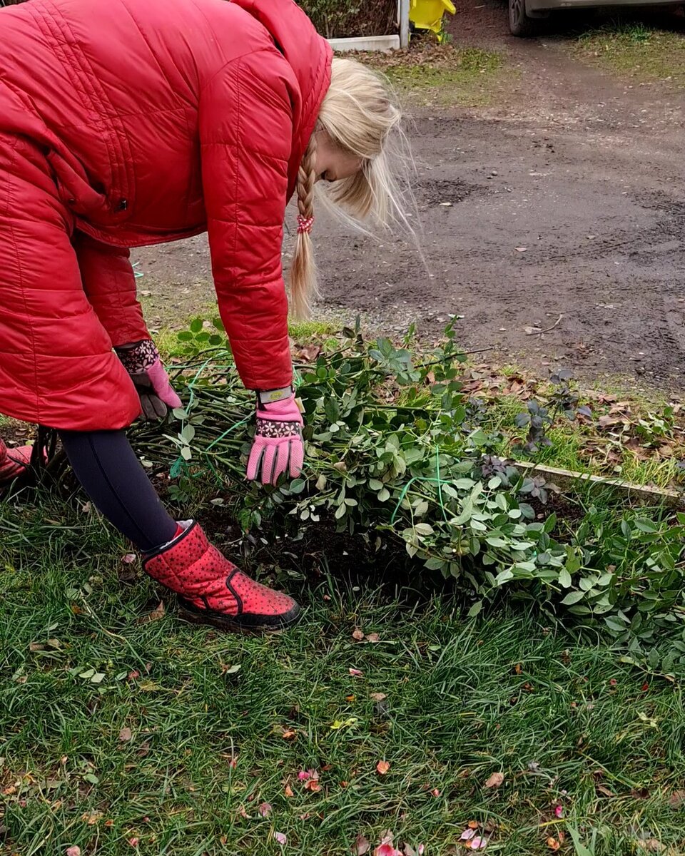
<svg viewBox="0 0 685 856"><path fill-rule="evenodd" d="M74 250L87 298L112 345L149 339L143 311L135 294L135 276L128 250L110 247L77 233Z"/></svg>

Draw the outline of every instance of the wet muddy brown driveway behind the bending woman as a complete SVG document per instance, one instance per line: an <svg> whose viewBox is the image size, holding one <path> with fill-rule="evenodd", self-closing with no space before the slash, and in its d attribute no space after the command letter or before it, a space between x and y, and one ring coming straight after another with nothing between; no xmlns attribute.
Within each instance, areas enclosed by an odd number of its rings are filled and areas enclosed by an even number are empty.
<svg viewBox="0 0 685 856"><path fill-rule="evenodd" d="M415 321L434 336L455 313L464 346L493 360L677 388L685 96L588 68L555 37L512 39L501 5L462 3L450 27L458 43L503 51L511 74L485 108L413 110L426 264L412 241L319 217L319 314L364 312L388 333ZM153 325L210 303L203 238L135 258Z"/></svg>

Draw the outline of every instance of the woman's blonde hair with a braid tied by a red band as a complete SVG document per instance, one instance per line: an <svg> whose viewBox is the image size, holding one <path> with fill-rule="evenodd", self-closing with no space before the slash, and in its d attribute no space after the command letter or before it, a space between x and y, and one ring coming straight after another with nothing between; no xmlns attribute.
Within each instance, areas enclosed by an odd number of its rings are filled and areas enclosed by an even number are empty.
<svg viewBox="0 0 685 856"><path fill-rule="evenodd" d="M299 217L313 217L316 195L338 217L366 231L361 221L371 218L388 227L403 223L409 229L405 195L396 174L402 172L402 148L406 146L400 122L402 110L390 83L371 68L352 59L334 57L331 86L321 104L319 118L297 177ZM316 134L324 130L343 152L361 158L361 169L334 181L324 193L316 188ZM290 300L294 314L307 318L316 294L316 265L308 230L298 229L295 255L290 266Z"/></svg>

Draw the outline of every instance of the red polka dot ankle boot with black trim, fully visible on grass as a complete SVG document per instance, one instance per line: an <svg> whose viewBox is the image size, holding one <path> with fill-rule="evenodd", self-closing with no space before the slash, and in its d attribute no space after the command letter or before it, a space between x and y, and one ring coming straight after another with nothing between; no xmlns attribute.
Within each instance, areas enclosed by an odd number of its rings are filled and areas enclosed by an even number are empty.
<svg viewBox="0 0 685 856"><path fill-rule="evenodd" d="M176 591L179 615L220 630L259 633L283 630L300 615L292 597L251 580L209 543L195 520L180 524L169 544L148 553L143 568Z"/></svg>

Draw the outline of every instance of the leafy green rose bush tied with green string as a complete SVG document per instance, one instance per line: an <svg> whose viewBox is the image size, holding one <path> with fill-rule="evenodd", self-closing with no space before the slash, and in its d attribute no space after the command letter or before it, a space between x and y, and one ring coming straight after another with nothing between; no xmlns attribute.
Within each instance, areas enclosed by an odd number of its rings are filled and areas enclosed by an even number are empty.
<svg viewBox="0 0 685 856"><path fill-rule="evenodd" d="M222 491L217 501L250 538L320 541L335 529L376 549L404 544L417 569L458 581L472 615L513 588L623 636L636 615L643 624L672 621L685 594L685 515L646 520L637 510L594 510L564 532L545 509L544 479L524 477L497 456L502 437L487 427L483 402L464 392L467 358L455 340L450 324L443 342L415 359L413 330L396 347L366 342L357 324L295 364L306 466L274 490L244 481L252 397L221 348L177 366L174 383L186 385L179 430L167 425L160 437L139 426L138 443L151 462L169 467L176 458L170 474L181 502L194 479L207 484L211 474ZM560 399L567 416L571 404L578 410L563 389ZM643 624L640 633L648 632Z"/></svg>

